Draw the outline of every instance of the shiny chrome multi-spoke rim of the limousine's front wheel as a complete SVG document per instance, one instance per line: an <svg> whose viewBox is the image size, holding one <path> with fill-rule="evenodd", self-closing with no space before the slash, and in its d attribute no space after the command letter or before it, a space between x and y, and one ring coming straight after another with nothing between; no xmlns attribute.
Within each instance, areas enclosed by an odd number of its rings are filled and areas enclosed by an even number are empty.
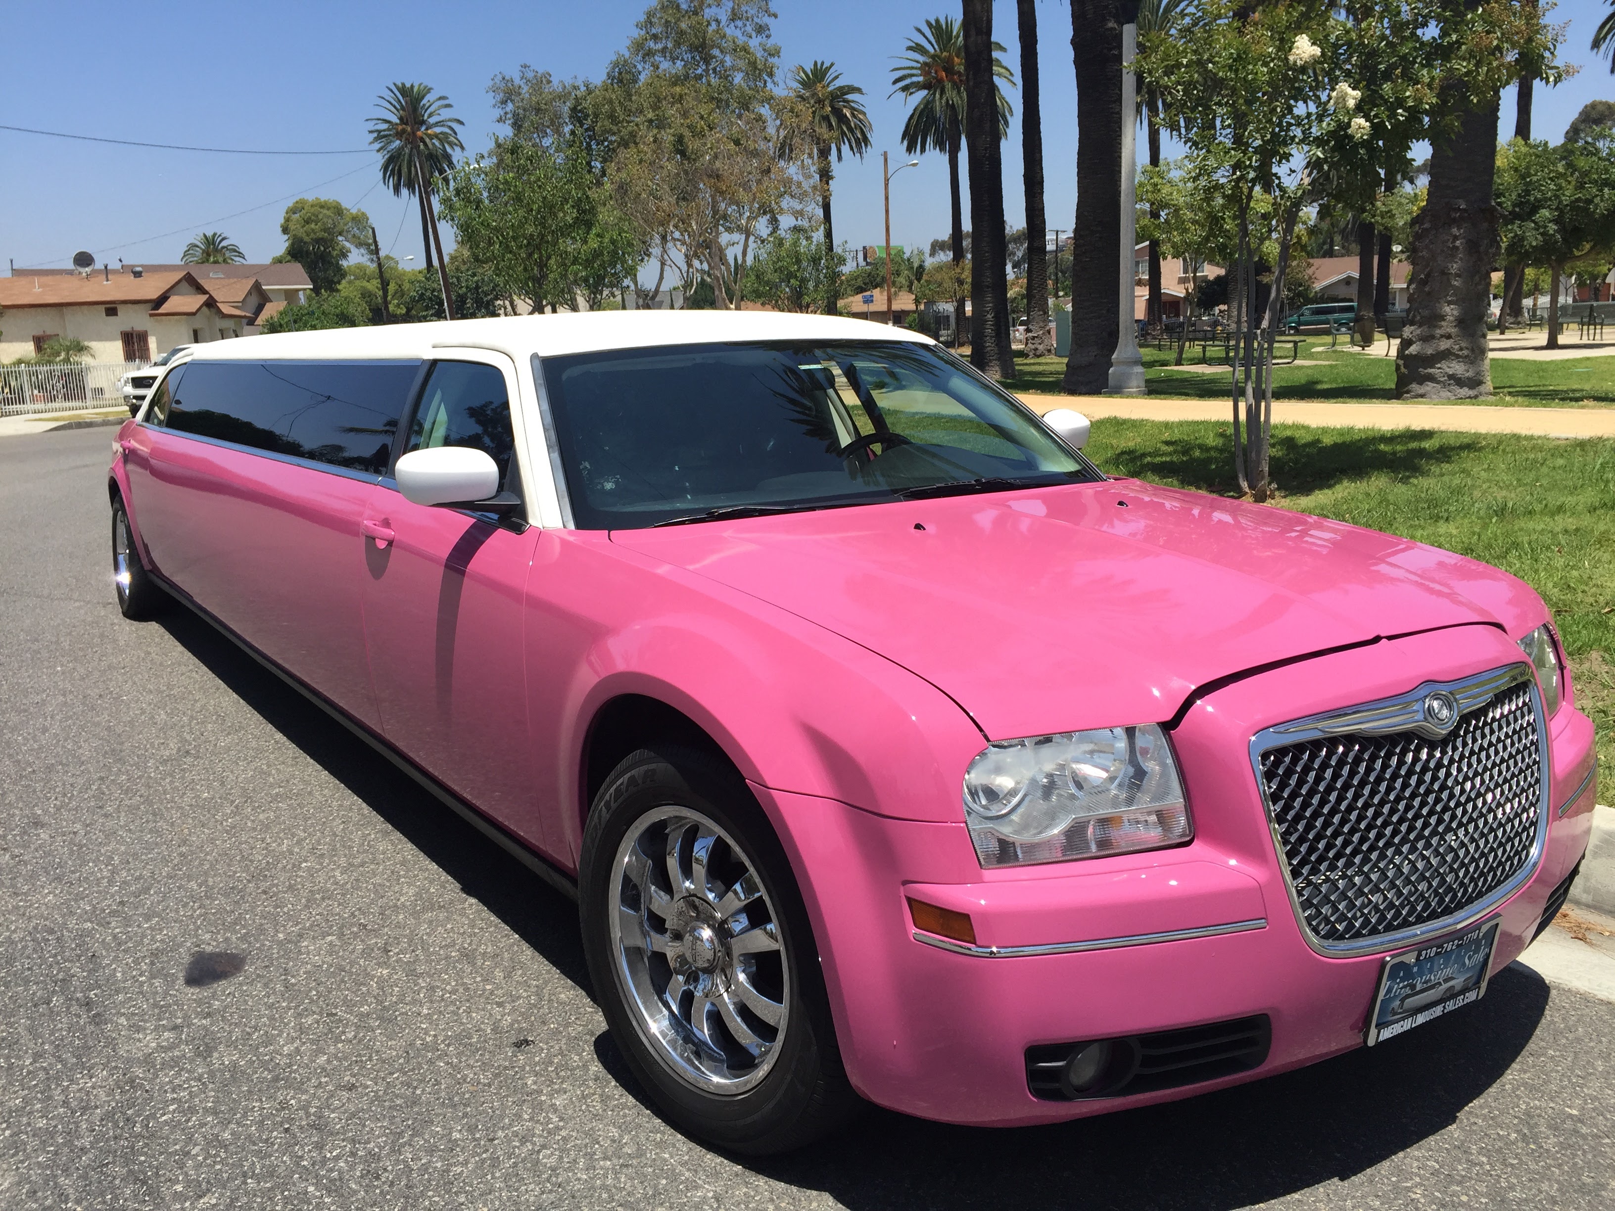
<svg viewBox="0 0 1615 1211"><path fill-rule="evenodd" d="M610 880L617 983L651 1054L704 1093L745 1093L778 1058L790 966L756 864L690 807L646 812Z"/></svg>

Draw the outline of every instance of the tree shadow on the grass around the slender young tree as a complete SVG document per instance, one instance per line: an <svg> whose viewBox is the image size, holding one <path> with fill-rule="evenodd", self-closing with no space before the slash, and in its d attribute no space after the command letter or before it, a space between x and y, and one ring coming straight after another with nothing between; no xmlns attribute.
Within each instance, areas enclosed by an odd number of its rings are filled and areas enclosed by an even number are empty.
<svg viewBox="0 0 1615 1211"><path fill-rule="evenodd" d="M1103 425L1103 421L1101 421ZM1103 436L1103 431L1101 431ZM1429 430L1321 430L1274 426L1269 465L1284 492L1316 492L1349 480L1413 480L1484 447L1489 439ZM1126 441L1100 455L1100 470L1203 492L1239 494L1232 426L1174 425L1148 444Z"/></svg>

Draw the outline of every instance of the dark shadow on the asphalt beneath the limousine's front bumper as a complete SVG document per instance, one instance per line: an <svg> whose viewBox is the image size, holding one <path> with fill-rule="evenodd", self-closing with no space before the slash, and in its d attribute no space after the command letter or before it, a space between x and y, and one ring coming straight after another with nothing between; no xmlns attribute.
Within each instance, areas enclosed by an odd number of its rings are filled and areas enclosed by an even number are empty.
<svg viewBox="0 0 1615 1211"><path fill-rule="evenodd" d="M1252 1206L1347 1180L1452 1129L1508 1072L1547 1003L1541 977L1512 966L1423 1038L1200 1098L1017 1130L869 1111L811 1150L743 1163L854 1211Z"/></svg>

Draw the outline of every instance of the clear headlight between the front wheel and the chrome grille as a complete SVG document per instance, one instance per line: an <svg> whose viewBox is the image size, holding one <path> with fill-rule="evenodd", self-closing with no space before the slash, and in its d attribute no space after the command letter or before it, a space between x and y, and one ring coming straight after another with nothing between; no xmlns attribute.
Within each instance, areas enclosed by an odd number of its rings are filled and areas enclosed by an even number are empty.
<svg viewBox="0 0 1615 1211"><path fill-rule="evenodd" d="M1155 723L988 744L964 772L964 820L984 867L1160 849L1195 835Z"/></svg>

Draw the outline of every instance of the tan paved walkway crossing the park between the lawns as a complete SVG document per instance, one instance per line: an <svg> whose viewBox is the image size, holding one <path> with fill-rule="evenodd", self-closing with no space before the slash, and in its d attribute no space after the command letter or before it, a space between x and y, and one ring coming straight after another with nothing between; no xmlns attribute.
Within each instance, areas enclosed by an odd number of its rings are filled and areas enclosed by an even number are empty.
<svg viewBox="0 0 1615 1211"><path fill-rule="evenodd" d="M1121 396L1038 396L1021 399L1038 415L1076 409L1089 420L1221 420L1227 400ZM1276 425L1360 430L1450 430L1455 433L1523 433L1541 438L1615 438L1615 409L1510 409L1487 404L1319 404L1274 400Z"/></svg>

